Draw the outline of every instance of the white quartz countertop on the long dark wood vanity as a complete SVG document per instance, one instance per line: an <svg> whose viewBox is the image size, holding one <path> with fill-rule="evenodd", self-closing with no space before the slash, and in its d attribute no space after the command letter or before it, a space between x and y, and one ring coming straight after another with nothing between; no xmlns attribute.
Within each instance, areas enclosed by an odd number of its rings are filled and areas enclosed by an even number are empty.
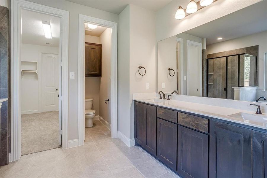
<svg viewBox="0 0 267 178"><path fill-rule="evenodd" d="M255 114L257 107L255 107L255 112L242 110L242 109L232 109L228 107L212 106L208 104L199 104L194 102L180 101L180 100L163 100L155 97L148 98L134 98L135 101L140 101L143 103L153 104L156 106L162 106L170 109L177 109L180 111L191 112L194 114L199 114L207 117L213 117L221 120L227 120L235 123L241 123L244 125L250 125L257 128L262 128L267 130L267 115ZM233 115L236 113L247 113L253 116L260 116L260 119L245 120L243 118L230 117L228 115Z"/></svg>

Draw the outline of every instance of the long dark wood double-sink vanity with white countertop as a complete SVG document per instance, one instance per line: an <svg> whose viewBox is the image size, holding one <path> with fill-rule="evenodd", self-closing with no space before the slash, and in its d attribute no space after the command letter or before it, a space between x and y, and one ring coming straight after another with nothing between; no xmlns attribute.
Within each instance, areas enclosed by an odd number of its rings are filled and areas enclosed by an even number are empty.
<svg viewBox="0 0 267 178"><path fill-rule="evenodd" d="M134 100L135 145L181 177L264 177L266 115L185 101ZM222 109L227 116L217 112Z"/></svg>

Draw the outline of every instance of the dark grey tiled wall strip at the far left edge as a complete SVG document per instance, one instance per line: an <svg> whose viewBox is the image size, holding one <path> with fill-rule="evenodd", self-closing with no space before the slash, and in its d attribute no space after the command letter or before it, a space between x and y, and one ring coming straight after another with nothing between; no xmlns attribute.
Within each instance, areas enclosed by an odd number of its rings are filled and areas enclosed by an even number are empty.
<svg viewBox="0 0 267 178"><path fill-rule="evenodd" d="M8 98L1 108L1 143L0 166L9 163L9 115L10 115L10 84L9 84L9 10L0 6L0 98Z"/></svg>

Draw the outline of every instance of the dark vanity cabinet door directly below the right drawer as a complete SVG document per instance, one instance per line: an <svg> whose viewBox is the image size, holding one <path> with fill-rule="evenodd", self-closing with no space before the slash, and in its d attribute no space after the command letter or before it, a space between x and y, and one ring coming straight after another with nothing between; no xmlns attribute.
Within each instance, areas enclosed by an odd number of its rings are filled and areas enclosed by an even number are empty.
<svg viewBox="0 0 267 178"><path fill-rule="evenodd" d="M183 177L208 177L208 135L178 125L177 172Z"/></svg>

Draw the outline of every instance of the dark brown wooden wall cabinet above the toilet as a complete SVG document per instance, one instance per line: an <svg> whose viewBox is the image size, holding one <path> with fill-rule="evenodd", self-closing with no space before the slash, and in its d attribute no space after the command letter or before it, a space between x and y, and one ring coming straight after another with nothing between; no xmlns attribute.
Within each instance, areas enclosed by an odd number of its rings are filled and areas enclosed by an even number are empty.
<svg viewBox="0 0 267 178"><path fill-rule="evenodd" d="M85 77L101 77L102 45L85 43Z"/></svg>

